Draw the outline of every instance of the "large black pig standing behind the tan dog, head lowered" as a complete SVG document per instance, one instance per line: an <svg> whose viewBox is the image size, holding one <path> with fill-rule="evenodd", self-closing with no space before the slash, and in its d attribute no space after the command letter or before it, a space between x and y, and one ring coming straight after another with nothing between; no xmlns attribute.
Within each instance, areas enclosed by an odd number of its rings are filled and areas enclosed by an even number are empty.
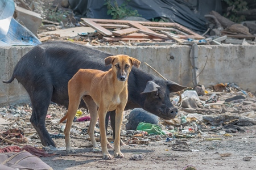
<svg viewBox="0 0 256 170"><path fill-rule="evenodd" d="M68 81L79 69L109 70L111 66L104 64L104 58L108 56L113 54L72 42L46 42L25 54L15 66L11 79L3 81L11 83L16 78L27 90L32 104L30 122L38 132L42 145L56 147L45 125L50 102L68 107ZM129 98L125 109L143 108L170 120L178 112L170 102L170 92L184 88L133 67L128 80ZM83 101L80 107L86 108Z"/></svg>

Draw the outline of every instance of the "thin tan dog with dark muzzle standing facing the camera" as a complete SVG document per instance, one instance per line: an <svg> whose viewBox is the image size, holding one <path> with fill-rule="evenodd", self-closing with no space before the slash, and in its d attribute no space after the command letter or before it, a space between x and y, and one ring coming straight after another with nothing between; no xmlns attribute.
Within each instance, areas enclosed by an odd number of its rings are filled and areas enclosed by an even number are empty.
<svg viewBox="0 0 256 170"><path fill-rule="evenodd" d="M100 121L100 135L103 159L112 159L107 148L107 138L105 129L105 117L108 111L115 110L115 141L114 156L123 158L120 151L120 131L123 117L123 110L127 103L128 90L127 79L131 67L139 67L138 59L126 55L109 56L105 58L105 65L112 63L109 71L80 69L68 82L69 105L67 114L61 118L63 122L67 118L64 130L67 152L75 152L70 145L70 129L76 115L81 98L85 101L90 112L90 124L88 133L93 143L93 147L98 147L94 138L94 127L97 118ZM98 113L97 113L98 107Z"/></svg>

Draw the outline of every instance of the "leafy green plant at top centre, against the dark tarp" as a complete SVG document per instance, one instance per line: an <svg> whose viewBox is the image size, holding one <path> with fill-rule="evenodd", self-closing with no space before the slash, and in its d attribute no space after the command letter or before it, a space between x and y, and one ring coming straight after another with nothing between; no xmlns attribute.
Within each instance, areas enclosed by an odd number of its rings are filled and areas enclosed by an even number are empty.
<svg viewBox="0 0 256 170"><path fill-rule="evenodd" d="M105 0L106 3L104 3L104 5L107 6L108 8L108 15L112 15L112 19L121 19L125 16L141 16L138 14L137 10L132 10L131 8L128 7L128 2L130 2L131 0L125 0L121 6L118 6L117 1L113 1L112 4L112 0Z"/></svg>

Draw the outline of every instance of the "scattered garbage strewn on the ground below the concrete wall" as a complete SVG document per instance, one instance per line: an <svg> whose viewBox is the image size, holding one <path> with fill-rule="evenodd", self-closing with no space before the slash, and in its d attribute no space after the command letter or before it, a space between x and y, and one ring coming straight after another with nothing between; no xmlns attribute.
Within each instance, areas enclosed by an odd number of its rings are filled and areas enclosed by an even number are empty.
<svg viewBox="0 0 256 170"><path fill-rule="evenodd" d="M123 142L131 146L171 142L173 150L190 151L183 141L184 138L203 141L222 140L232 137L234 133L245 133L249 126L256 125L256 97L250 92L241 90L234 83L216 84L210 88L196 86L184 91L183 94L172 94L171 101L179 108L179 114L172 120L159 120L158 117L141 108L125 111L121 130ZM64 138L65 124L59 124L59 118L65 112L67 112L66 108L54 103L49 107L46 128L55 140ZM40 139L30 123L29 104L0 108L0 115L1 145L26 143L35 147L40 146ZM77 111L71 129L71 138L89 141L87 133L89 120L90 116L86 109ZM113 131L109 128L109 141L113 141L112 134ZM96 124L95 136L99 141L98 124ZM48 150L52 151L51 148Z"/></svg>

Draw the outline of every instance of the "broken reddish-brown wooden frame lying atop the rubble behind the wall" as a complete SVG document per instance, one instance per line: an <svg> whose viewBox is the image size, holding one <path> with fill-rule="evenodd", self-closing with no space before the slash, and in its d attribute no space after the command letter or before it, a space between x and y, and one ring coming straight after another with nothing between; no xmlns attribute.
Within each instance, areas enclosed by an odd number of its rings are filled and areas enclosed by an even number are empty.
<svg viewBox="0 0 256 170"><path fill-rule="evenodd" d="M203 36L200 36L199 34L177 23L139 22L139 21L131 21L131 20L92 19L92 18L81 18L81 20L83 20L86 23L86 25L88 25L89 27L96 29L102 35L109 36L109 37L114 36L113 33L110 32L108 29L102 27L102 24L113 24L113 26L114 24L128 25L131 28L139 29L138 32L141 32L150 36L154 36L154 37L159 37L161 39L170 39L168 36L164 35L163 33L155 32L155 31L162 30L164 29L164 27L166 27L166 28L170 28L170 30L167 30L167 31L177 32L176 36L179 36L181 39L188 39L188 38L204 39Z"/></svg>

